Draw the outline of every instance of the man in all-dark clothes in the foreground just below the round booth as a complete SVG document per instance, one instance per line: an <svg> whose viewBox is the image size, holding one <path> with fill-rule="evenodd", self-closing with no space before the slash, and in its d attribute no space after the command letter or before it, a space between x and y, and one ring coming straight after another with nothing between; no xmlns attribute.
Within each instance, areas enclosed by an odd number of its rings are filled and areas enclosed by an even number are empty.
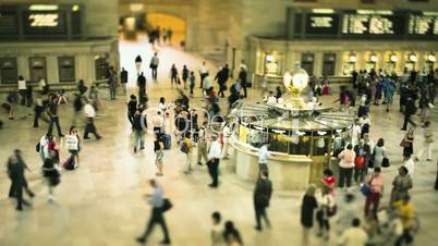
<svg viewBox="0 0 438 246"><path fill-rule="evenodd" d="M261 231L261 218L265 220L266 225L270 227L270 221L266 209L269 207L271 196L272 182L268 177L268 171L263 170L254 189L254 210L256 216L255 230L257 231Z"/></svg>

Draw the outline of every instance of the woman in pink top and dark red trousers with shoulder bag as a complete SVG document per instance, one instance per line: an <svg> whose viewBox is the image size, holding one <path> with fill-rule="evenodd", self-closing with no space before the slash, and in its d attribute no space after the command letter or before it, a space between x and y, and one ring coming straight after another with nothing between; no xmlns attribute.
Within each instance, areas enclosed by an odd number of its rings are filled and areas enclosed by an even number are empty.
<svg viewBox="0 0 438 246"><path fill-rule="evenodd" d="M381 170L379 167L374 168L374 173L370 174L364 185L369 187L369 193L366 194L365 200L365 218L369 216L369 209L372 208L372 214L374 218L377 217L377 210L379 208L379 201L384 195L384 176L381 175Z"/></svg>

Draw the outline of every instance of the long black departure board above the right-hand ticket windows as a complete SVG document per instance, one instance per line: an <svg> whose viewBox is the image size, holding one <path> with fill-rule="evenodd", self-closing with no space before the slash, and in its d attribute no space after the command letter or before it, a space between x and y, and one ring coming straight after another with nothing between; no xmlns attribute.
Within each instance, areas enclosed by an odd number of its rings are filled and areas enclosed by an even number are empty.
<svg viewBox="0 0 438 246"><path fill-rule="evenodd" d="M438 12L289 9L290 38L438 38ZM323 13L321 13L323 12Z"/></svg>

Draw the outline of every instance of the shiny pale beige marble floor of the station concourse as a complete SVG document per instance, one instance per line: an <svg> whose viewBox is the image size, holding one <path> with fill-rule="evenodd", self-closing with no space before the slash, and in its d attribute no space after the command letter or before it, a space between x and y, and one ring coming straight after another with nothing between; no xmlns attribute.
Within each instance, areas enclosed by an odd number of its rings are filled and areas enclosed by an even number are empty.
<svg viewBox="0 0 438 246"><path fill-rule="evenodd" d="M120 46L121 63L130 74L134 72L134 58L137 53L148 64L151 50L145 44L122 41ZM149 107L158 104L163 96L168 101L175 98L177 91L170 88L168 79L172 63L179 67L187 64L197 71L202 60L193 54L172 48L160 48L161 65L157 83L148 84ZM147 59L145 59L147 58ZM211 71L214 64L209 64ZM145 66L146 67L146 66ZM148 78L150 77L147 71ZM133 85L133 79L130 79ZM198 83L198 82L197 82ZM133 88L130 91L134 91ZM155 177L153 135L147 135L144 151L134 153L132 136L125 116L126 98L107 100L102 91L104 111L96 125L104 138L86 140L81 152L81 167L73 172L63 172L61 184L56 189L56 202L47 201L47 188L39 174L40 160L35 152L35 144L44 135L47 124L33 128L32 119L5 121L0 130L0 160L5 163L12 150L24 150L24 159L32 172L26 173L31 187L36 192L33 207L16 212L14 201L7 198L9 179L0 172L0 246L135 246L134 237L139 235L149 217L149 207L144 197L150 193L148 180ZM259 91L251 90L248 102L259 99ZM331 103L333 97L323 98ZM200 91L197 89L194 106L202 106ZM222 103L226 103L223 100ZM224 110L224 106L222 110ZM25 110L25 109L24 109ZM23 112L23 115L25 112ZM65 132L70 124L71 106L61 106L61 125ZM382 107L372 110L372 138L385 137L392 167L384 170L387 202L390 183L396 175L397 165L402 161L399 147L402 132L401 114L397 109L386 113ZM433 127L438 130L437 110L431 113ZM4 119L4 114L1 115ZM416 131L421 139L421 130ZM173 143L174 144L174 143ZM438 219L438 193L433 189L436 176L437 148L434 147L434 162L416 163L414 176L413 202L421 219L421 231L414 245L435 245L438 241L436 221ZM66 151L61 152L65 159ZM209 176L205 167L195 167L193 174L183 174L184 157L178 148L165 153L165 176L158 177L165 194L171 198L174 208L166 214L172 238L172 245L209 245L210 213L220 211L224 220L232 220L250 246L292 246L300 245L301 225L299 198L303 190L273 193L269 217L272 229L258 233L254 230L252 193L254 184L242 181L229 168L221 163L221 185L210 189ZM275 177L272 177L275 179ZM276 187L273 187L276 188ZM363 198L357 195L357 214L362 214ZM340 211L342 207L339 207ZM334 224L332 220L332 224ZM336 225L333 225L336 229ZM330 241L323 241L312 233L311 245L336 245L334 230ZM156 229L149 245L158 245L161 232Z"/></svg>

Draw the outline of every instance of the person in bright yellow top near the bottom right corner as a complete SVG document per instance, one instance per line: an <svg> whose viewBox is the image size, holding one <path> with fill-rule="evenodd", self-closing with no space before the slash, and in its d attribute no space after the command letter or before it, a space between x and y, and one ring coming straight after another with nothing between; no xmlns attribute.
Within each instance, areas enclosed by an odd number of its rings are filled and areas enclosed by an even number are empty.
<svg viewBox="0 0 438 246"><path fill-rule="evenodd" d="M393 202L396 214L400 218L403 225L403 234L399 236L396 246L411 244L413 241L412 230L414 226L415 210L411 202L411 197L406 195L402 200Z"/></svg>

